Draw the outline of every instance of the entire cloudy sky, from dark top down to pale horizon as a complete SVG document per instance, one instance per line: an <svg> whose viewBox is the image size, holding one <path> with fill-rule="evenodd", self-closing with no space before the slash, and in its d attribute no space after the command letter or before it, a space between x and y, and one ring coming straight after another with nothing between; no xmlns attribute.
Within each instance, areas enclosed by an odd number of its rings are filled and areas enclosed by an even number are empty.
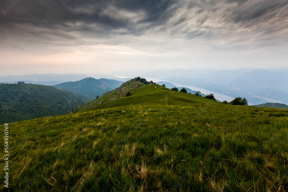
<svg viewBox="0 0 288 192"><path fill-rule="evenodd" d="M2 0L0 76L287 66L287 0ZM257 56L258 54L258 56Z"/></svg>

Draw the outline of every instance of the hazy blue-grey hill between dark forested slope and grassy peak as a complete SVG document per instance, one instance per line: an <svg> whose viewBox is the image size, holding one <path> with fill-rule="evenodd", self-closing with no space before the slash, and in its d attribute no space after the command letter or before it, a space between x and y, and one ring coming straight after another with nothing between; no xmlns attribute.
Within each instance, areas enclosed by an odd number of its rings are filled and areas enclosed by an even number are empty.
<svg viewBox="0 0 288 192"><path fill-rule="evenodd" d="M92 77L88 77L80 81L70 81L53 85L53 87L61 90L67 90L80 96L85 96L87 99L92 101L98 95L101 96L103 93L119 87L119 85L122 83L122 81L117 81L114 79L94 79Z"/></svg>

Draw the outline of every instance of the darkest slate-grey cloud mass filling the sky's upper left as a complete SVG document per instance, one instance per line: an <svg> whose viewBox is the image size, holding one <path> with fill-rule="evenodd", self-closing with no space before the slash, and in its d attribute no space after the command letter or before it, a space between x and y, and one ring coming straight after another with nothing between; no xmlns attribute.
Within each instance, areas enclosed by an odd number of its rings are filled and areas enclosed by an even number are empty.
<svg viewBox="0 0 288 192"><path fill-rule="evenodd" d="M63 0L65 1L65 0ZM104 30L119 29L132 26L137 23L139 18L125 18L125 13L143 12L145 22L154 22L158 20L162 14L168 14L166 10L176 1L169 0L164 5L158 8L157 3L161 1L128 1L115 0L115 4L111 4L111 0L76 0L69 1L64 4L63 1L18 1L17 4L5 16L0 14L0 22L2 25L11 26L13 24L31 24L38 25L41 19L47 18L51 20L48 28L62 29L65 31L79 30L76 23L82 23L82 27L92 24L100 24ZM165 1L164 1L165 2ZM1 1L0 7L4 8L10 4L11 1ZM107 7L107 3L112 7L105 13L103 8ZM123 17L116 17L115 15L122 12ZM101 18L99 13L102 14ZM136 21L135 21L136 19ZM87 27L89 29L89 27ZM109 32L109 31L108 31Z"/></svg>

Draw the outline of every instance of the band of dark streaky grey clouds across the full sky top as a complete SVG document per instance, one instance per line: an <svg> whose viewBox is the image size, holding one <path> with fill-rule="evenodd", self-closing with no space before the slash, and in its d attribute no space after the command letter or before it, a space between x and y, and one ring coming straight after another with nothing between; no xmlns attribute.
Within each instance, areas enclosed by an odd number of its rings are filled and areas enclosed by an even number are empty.
<svg viewBox="0 0 288 192"><path fill-rule="evenodd" d="M137 37L181 33L187 39L201 37L209 41L221 38L235 23L243 30L255 31L256 34L275 33L287 28L285 7L288 1L285 0L262 0L264 3L260 5L254 0L115 0L116 3L101 18L99 13L111 6L112 0L70 0L64 5L66 0L20 0L4 15L2 9L5 10L12 1L0 2L1 42L7 41L7 38L18 38L15 40L17 43L29 35L42 19L49 20L49 23L36 35L38 39L34 43L62 45L74 38L77 31L111 43L110 38L127 35L138 22L145 27L135 34ZM286 14L281 12L278 22L271 23L278 11L283 9ZM283 24L278 26L280 22ZM94 42L98 41L82 43ZM15 45L11 43L11 46Z"/></svg>

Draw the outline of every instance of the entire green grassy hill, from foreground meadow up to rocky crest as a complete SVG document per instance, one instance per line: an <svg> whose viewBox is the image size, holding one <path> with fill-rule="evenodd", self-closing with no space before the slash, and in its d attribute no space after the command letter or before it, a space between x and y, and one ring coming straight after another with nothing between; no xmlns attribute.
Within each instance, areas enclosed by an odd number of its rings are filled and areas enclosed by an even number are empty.
<svg viewBox="0 0 288 192"><path fill-rule="evenodd" d="M288 190L286 109L131 80L75 111L9 124L11 191Z"/></svg>

